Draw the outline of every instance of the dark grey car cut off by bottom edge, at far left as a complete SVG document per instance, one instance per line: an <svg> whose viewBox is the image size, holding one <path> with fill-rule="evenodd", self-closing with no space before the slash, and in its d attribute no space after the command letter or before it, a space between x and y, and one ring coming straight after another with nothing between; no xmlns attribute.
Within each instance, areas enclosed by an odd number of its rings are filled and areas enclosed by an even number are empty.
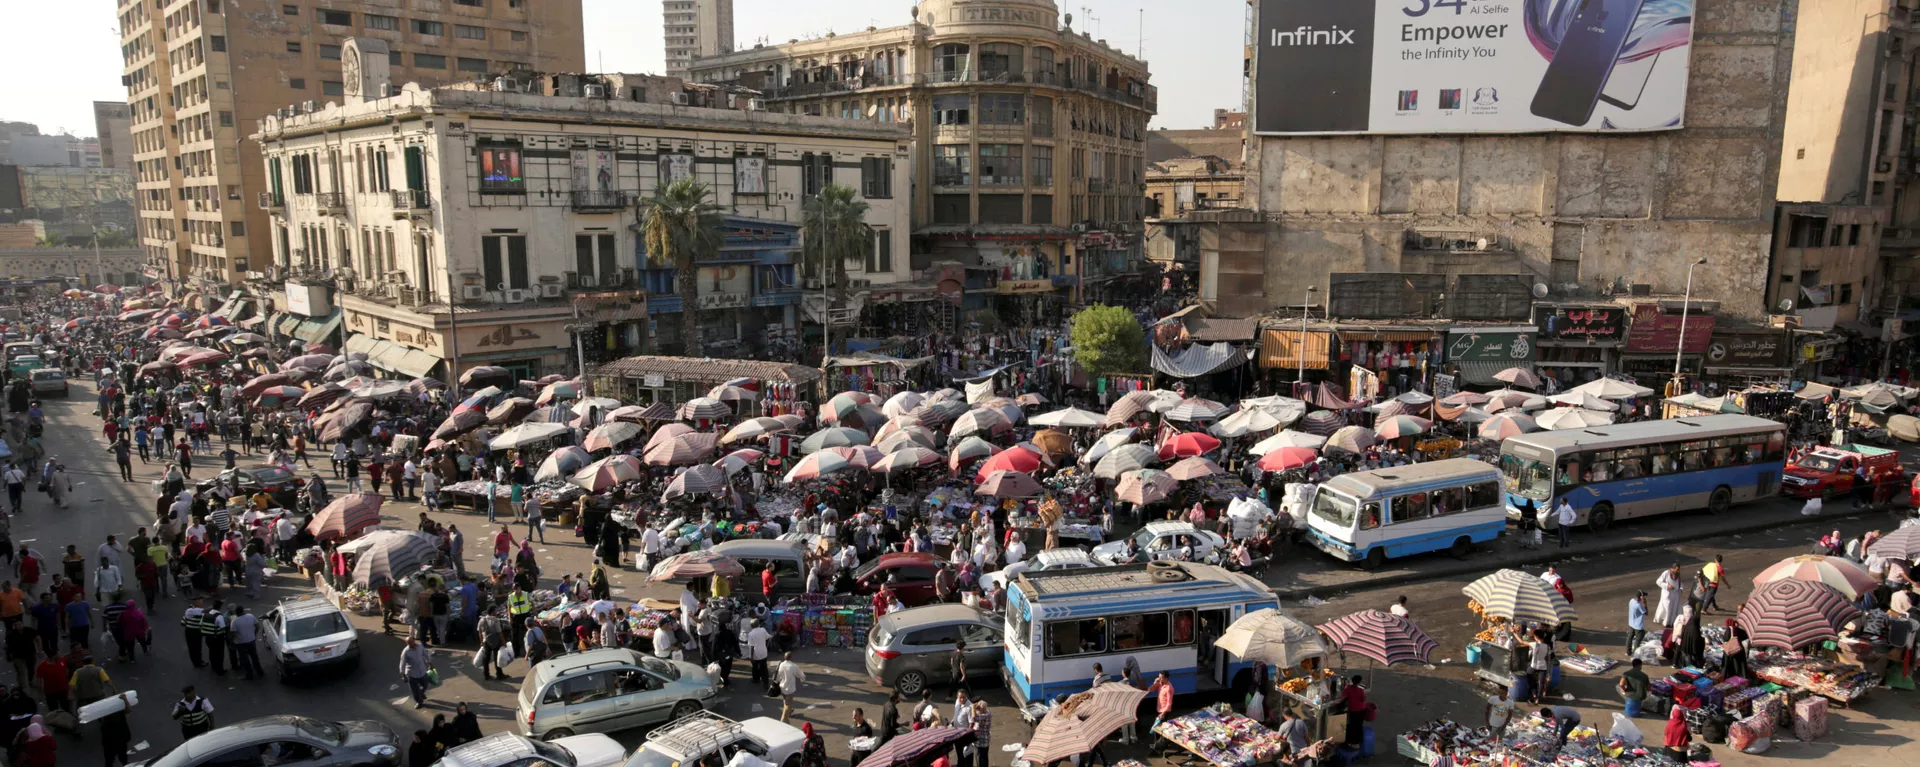
<svg viewBox="0 0 1920 767"><path fill-rule="evenodd" d="M376 721L259 717L202 732L134 767L399 767L399 736Z"/></svg>

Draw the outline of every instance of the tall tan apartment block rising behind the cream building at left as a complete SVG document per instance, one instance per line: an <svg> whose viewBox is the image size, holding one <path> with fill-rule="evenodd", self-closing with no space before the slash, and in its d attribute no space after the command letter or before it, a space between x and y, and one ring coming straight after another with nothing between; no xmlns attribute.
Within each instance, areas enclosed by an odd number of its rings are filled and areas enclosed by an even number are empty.
<svg viewBox="0 0 1920 767"><path fill-rule="evenodd" d="M152 277L221 290L271 260L259 144L278 110L338 102L361 62L348 37L386 42L396 83L507 69L580 71L580 0L121 0L140 248ZM346 173L340 156L321 158Z"/></svg>

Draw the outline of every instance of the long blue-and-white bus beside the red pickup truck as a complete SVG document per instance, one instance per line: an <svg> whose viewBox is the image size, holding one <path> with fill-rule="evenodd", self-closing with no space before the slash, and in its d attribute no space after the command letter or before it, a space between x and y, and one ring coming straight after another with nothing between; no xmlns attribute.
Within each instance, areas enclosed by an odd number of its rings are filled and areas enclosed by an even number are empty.
<svg viewBox="0 0 1920 767"><path fill-rule="evenodd" d="M1578 523L1699 509L1724 513L1780 492L1786 425L1753 415L1701 415L1544 431L1500 444L1507 513L1567 498ZM1551 527L1551 517L1549 517Z"/></svg>

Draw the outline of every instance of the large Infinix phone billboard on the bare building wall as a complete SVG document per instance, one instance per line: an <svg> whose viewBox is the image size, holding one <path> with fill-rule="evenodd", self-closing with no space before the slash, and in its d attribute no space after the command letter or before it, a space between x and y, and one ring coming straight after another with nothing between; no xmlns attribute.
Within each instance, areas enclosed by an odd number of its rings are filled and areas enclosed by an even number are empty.
<svg viewBox="0 0 1920 767"><path fill-rule="evenodd" d="M1260 0L1256 135L1670 131L1695 0Z"/></svg>

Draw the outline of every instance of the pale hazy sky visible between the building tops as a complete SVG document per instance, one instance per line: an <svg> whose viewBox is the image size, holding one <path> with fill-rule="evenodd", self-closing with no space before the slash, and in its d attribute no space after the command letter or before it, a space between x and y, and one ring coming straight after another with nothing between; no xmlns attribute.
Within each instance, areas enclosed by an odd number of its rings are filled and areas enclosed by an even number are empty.
<svg viewBox="0 0 1920 767"><path fill-rule="evenodd" d="M228 0L234 2L234 0ZM238 0L259 4L261 0ZM660 0L584 0L588 69L660 71ZM1056 0L1073 27L1129 54L1140 44L1146 8L1146 62L1160 87L1154 127L1206 127L1213 108L1240 102L1240 40L1246 4L1238 0L1144 2ZM908 0L806 2L735 0L739 46L889 27L910 19ZM123 100L119 33L111 0L4 2L0 19L15 35L0 46L0 119L38 123L42 133L94 135L96 100Z"/></svg>

